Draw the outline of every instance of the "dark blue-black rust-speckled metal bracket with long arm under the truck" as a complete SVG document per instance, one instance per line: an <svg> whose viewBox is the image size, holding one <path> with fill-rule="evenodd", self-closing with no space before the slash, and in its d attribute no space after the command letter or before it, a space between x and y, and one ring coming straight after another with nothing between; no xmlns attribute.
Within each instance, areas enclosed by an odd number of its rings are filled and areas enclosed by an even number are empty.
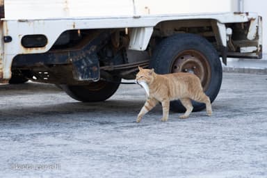
<svg viewBox="0 0 267 178"><path fill-rule="evenodd" d="M96 33L82 49L69 51L48 51L44 54L18 55L13 65L62 65L72 64L72 74L76 81L99 81L100 67L97 52L110 38L108 32ZM10 60L12 61L12 60ZM33 62L34 61L34 62Z"/></svg>

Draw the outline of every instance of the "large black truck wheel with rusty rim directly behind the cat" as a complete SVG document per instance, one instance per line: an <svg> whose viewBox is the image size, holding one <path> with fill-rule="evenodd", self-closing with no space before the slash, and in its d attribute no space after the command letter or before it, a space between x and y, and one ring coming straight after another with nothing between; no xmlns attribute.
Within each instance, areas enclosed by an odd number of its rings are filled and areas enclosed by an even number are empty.
<svg viewBox="0 0 267 178"><path fill-rule="evenodd" d="M206 39L195 34L176 34L165 38L156 47L149 67L159 74L191 72L200 78L202 87L211 102L216 98L222 83L223 72L216 49ZM193 111L201 111L206 106L192 102ZM184 112L179 100L170 103L170 109Z"/></svg>

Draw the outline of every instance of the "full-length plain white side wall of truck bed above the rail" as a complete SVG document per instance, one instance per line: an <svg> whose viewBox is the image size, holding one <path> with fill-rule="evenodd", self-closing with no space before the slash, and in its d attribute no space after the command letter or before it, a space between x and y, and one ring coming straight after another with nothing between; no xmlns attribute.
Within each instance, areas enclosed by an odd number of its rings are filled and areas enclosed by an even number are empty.
<svg viewBox="0 0 267 178"><path fill-rule="evenodd" d="M106 17L232 11L232 1L214 0L5 0L6 19Z"/></svg>

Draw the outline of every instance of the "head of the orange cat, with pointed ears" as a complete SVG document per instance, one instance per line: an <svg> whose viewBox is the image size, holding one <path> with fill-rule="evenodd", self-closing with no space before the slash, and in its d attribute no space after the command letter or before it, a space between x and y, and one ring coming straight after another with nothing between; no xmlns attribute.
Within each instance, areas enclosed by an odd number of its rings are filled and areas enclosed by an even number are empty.
<svg viewBox="0 0 267 178"><path fill-rule="evenodd" d="M154 80L154 69L147 70L142 67L138 67L139 72L136 74L136 83L145 82L147 84L151 83Z"/></svg>

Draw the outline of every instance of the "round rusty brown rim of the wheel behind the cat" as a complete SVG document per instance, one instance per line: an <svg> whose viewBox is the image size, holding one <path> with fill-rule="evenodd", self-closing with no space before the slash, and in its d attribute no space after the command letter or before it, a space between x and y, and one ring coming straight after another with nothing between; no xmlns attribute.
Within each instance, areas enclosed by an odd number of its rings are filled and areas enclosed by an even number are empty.
<svg viewBox="0 0 267 178"><path fill-rule="evenodd" d="M200 78L202 87L205 90L209 87L211 81L211 67L207 58L200 51L186 50L181 51L173 60L172 73L190 72Z"/></svg>

